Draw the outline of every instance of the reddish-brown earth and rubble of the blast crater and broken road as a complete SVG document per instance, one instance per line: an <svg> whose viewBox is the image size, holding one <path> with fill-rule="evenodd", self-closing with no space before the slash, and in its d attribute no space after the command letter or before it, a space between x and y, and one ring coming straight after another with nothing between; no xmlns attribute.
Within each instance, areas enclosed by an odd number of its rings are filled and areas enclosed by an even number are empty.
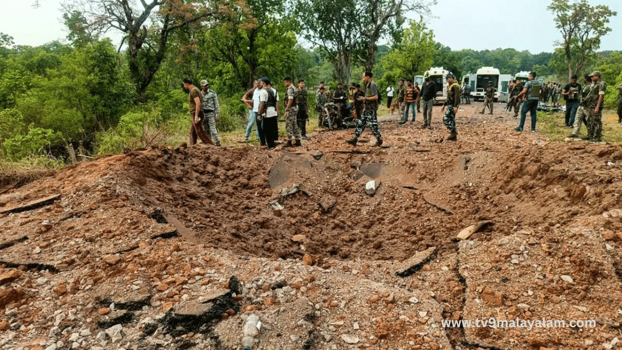
<svg viewBox="0 0 622 350"><path fill-rule="evenodd" d="M508 142L509 128L467 120L458 144L383 125L389 149L330 152L340 133L309 141L324 153L318 160L309 151L162 147L3 187L3 209L61 197L0 214L0 273L22 273L0 286L0 348L233 349L253 313L265 321L262 349L619 346L622 169L606 166L622 159L619 146L536 147L531 134ZM415 140L429 152L413 153ZM376 168L363 164L384 164L374 180L385 190L364 194L371 178L347 176L355 163L368 173ZM307 194L266 206L294 183ZM323 210L303 188L340 205ZM485 235L455 242L490 218ZM437 253L417 273L396 275L430 247ZM185 315L190 303L211 306ZM491 317L598 326L440 326Z"/></svg>

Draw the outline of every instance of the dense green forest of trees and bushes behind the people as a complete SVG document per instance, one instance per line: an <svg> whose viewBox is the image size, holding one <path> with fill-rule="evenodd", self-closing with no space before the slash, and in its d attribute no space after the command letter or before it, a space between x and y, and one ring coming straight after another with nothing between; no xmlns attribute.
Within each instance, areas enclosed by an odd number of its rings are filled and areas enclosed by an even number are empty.
<svg viewBox="0 0 622 350"><path fill-rule="evenodd" d="M131 4L101 1L106 2ZM566 82L572 63L580 72L601 70L610 86L622 81L622 52L598 52L600 41L585 57L573 54L576 40L572 50L562 43L537 54L511 48L452 50L435 41L423 2L350 2L366 16L348 17L340 12L344 6L333 8L328 0L223 1L208 7L160 0L142 2L134 9L141 16L114 6L67 6L67 39L39 47L20 45L10 33L0 33L0 160L64 164L80 156L183 140L189 123L181 85L185 77L207 79L218 93L221 131L246 123L240 98L253 78L261 76L272 78L279 90L287 75L304 78L310 88L320 81L335 87L337 82L358 82L371 69L384 89L433 66L458 77L493 66L509 74L534 70L548 80ZM391 14L396 3L402 7ZM422 16L408 21L402 16L409 9L404 4L419 6ZM379 11L378 6L388 7ZM292 15L279 16L283 13ZM376 13L388 17L378 19ZM108 22L101 21L102 14ZM318 19L302 21L305 16ZM327 29L335 21L343 28ZM363 27L361 21L373 30L356 31ZM124 34L123 42L106 38L106 26Z"/></svg>

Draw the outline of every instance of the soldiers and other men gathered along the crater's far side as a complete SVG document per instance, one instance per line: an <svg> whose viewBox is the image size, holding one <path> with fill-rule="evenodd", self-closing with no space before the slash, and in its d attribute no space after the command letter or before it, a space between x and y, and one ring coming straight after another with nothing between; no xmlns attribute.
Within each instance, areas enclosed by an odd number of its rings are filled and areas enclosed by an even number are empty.
<svg viewBox="0 0 622 350"><path fill-rule="evenodd" d="M443 123L450 131L450 135L446 140L457 140L457 131L455 128L455 115L458 112L458 106L461 97L468 95L465 93L465 85L462 87L455 81L452 73L447 75L448 97L443 105ZM422 101L424 105L424 124L423 128L431 128L432 124L432 104L436 96L437 87L435 82L429 77L424 77L425 82L421 87L413 84L412 80L399 80L396 98L392 107L399 106L399 112L402 119L399 125L404 125L408 121L408 112L412 110L412 121L415 121L415 106L420 112L419 103ZM601 80L601 73L594 71L583 77L583 86L577 82L577 76L573 76L570 82L562 89L558 83L548 83L545 88L538 80L536 73L529 73L527 82L522 83L521 79L513 80L509 86L509 110L514 110L514 116L519 115L519 126L514 128L515 131L522 131L526 121L527 111L531 114L531 131L536 130L537 121L537 104L541 102L542 97L547 93L545 90L555 90L560 88L560 95L566 101L565 126L573 128L569 138L578 138L581 125L587 126L587 136L584 140L592 142L600 142L602 138L602 110L604 107L604 96L606 84ZM298 88L294 87L292 78L286 77L283 80L286 88L285 92L285 128L287 130L287 142L285 147L301 146L300 139L306 139L306 123L309 120L309 98L305 88L305 81L299 80ZM347 143L356 145L358 137L366 126L369 126L374 136L376 136L375 146L383 144L383 138L378 128L377 110L380 103L380 94L378 85L373 81L373 74L365 72L363 74L363 88L358 83L353 83L348 88L348 92L343 89L341 83L338 84L337 90L332 88L326 91L325 83L320 83L320 87L315 96L315 111L318 113L318 124L321 126L324 118L324 109L328 103L334 103L341 106L341 114L349 114L355 120L355 137L346 140ZM207 80L200 82L201 89L195 87L192 78L183 80L183 87L188 90L188 105L190 108L190 116L192 126L190 128L190 144L195 144L197 138L203 143L211 143L220 146L220 136L216 128L216 122L220 117L220 106L218 97L213 90L210 90ZM468 88L468 86L467 86ZM622 123L622 84L616 87L620 95L618 97L618 123ZM389 91L389 90L388 90ZM391 95L393 94L391 88ZM485 89L484 108L480 113L485 113L486 108L490 109L493 114L494 108L494 92L493 83L489 82ZM555 93L553 93L553 96ZM392 96L391 96L392 97ZM248 90L241 99L248 106L249 121L246 127L244 138L248 141L253 125L257 126L257 135L261 144L267 146L268 149L274 149L278 140L279 116L279 93L276 88L272 87L267 77L255 80L254 87ZM553 100L555 103L555 100ZM467 98L468 102L468 98ZM468 102L470 103L470 102ZM446 110L446 107L447 108Z"/></svg>

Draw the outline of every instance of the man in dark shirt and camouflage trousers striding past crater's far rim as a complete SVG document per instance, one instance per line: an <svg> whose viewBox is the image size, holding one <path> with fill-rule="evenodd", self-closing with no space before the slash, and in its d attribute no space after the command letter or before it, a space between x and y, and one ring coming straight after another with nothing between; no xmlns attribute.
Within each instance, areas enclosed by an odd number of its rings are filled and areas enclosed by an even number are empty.
<svg viewBox="0 0 622 350"><path fill-rule="evenodd" d="M383 135L378 130L378 116L376 111L378 110L378 85L372 80L373 74L371 72L363 73L363 82L365 84L365 95L356 98L356 100L363 102L363 113L361 118L356 120L356 131L354 132L354 138L346 140L347 143L352 146L356 146L358 136L361 136L363 130L369 125L371 133L376 136L376 143L373 146L381 146L383 144Z"/></svg>

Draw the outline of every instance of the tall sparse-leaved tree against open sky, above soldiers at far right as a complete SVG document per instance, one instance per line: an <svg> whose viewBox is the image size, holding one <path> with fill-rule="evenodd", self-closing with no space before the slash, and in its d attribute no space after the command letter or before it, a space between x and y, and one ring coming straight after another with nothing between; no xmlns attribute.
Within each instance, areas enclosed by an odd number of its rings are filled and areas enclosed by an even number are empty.
<svg viewBox="0 0 622 350"><path fill-rule="evenodd" d="M562 40L557 44L563 49L570 79L598 50L601 37L611 31L607 26L609 19L617 12L605 5L591 6L587 0L553 0L547 8L553 12L555 27L562 34Z"/></svg>

